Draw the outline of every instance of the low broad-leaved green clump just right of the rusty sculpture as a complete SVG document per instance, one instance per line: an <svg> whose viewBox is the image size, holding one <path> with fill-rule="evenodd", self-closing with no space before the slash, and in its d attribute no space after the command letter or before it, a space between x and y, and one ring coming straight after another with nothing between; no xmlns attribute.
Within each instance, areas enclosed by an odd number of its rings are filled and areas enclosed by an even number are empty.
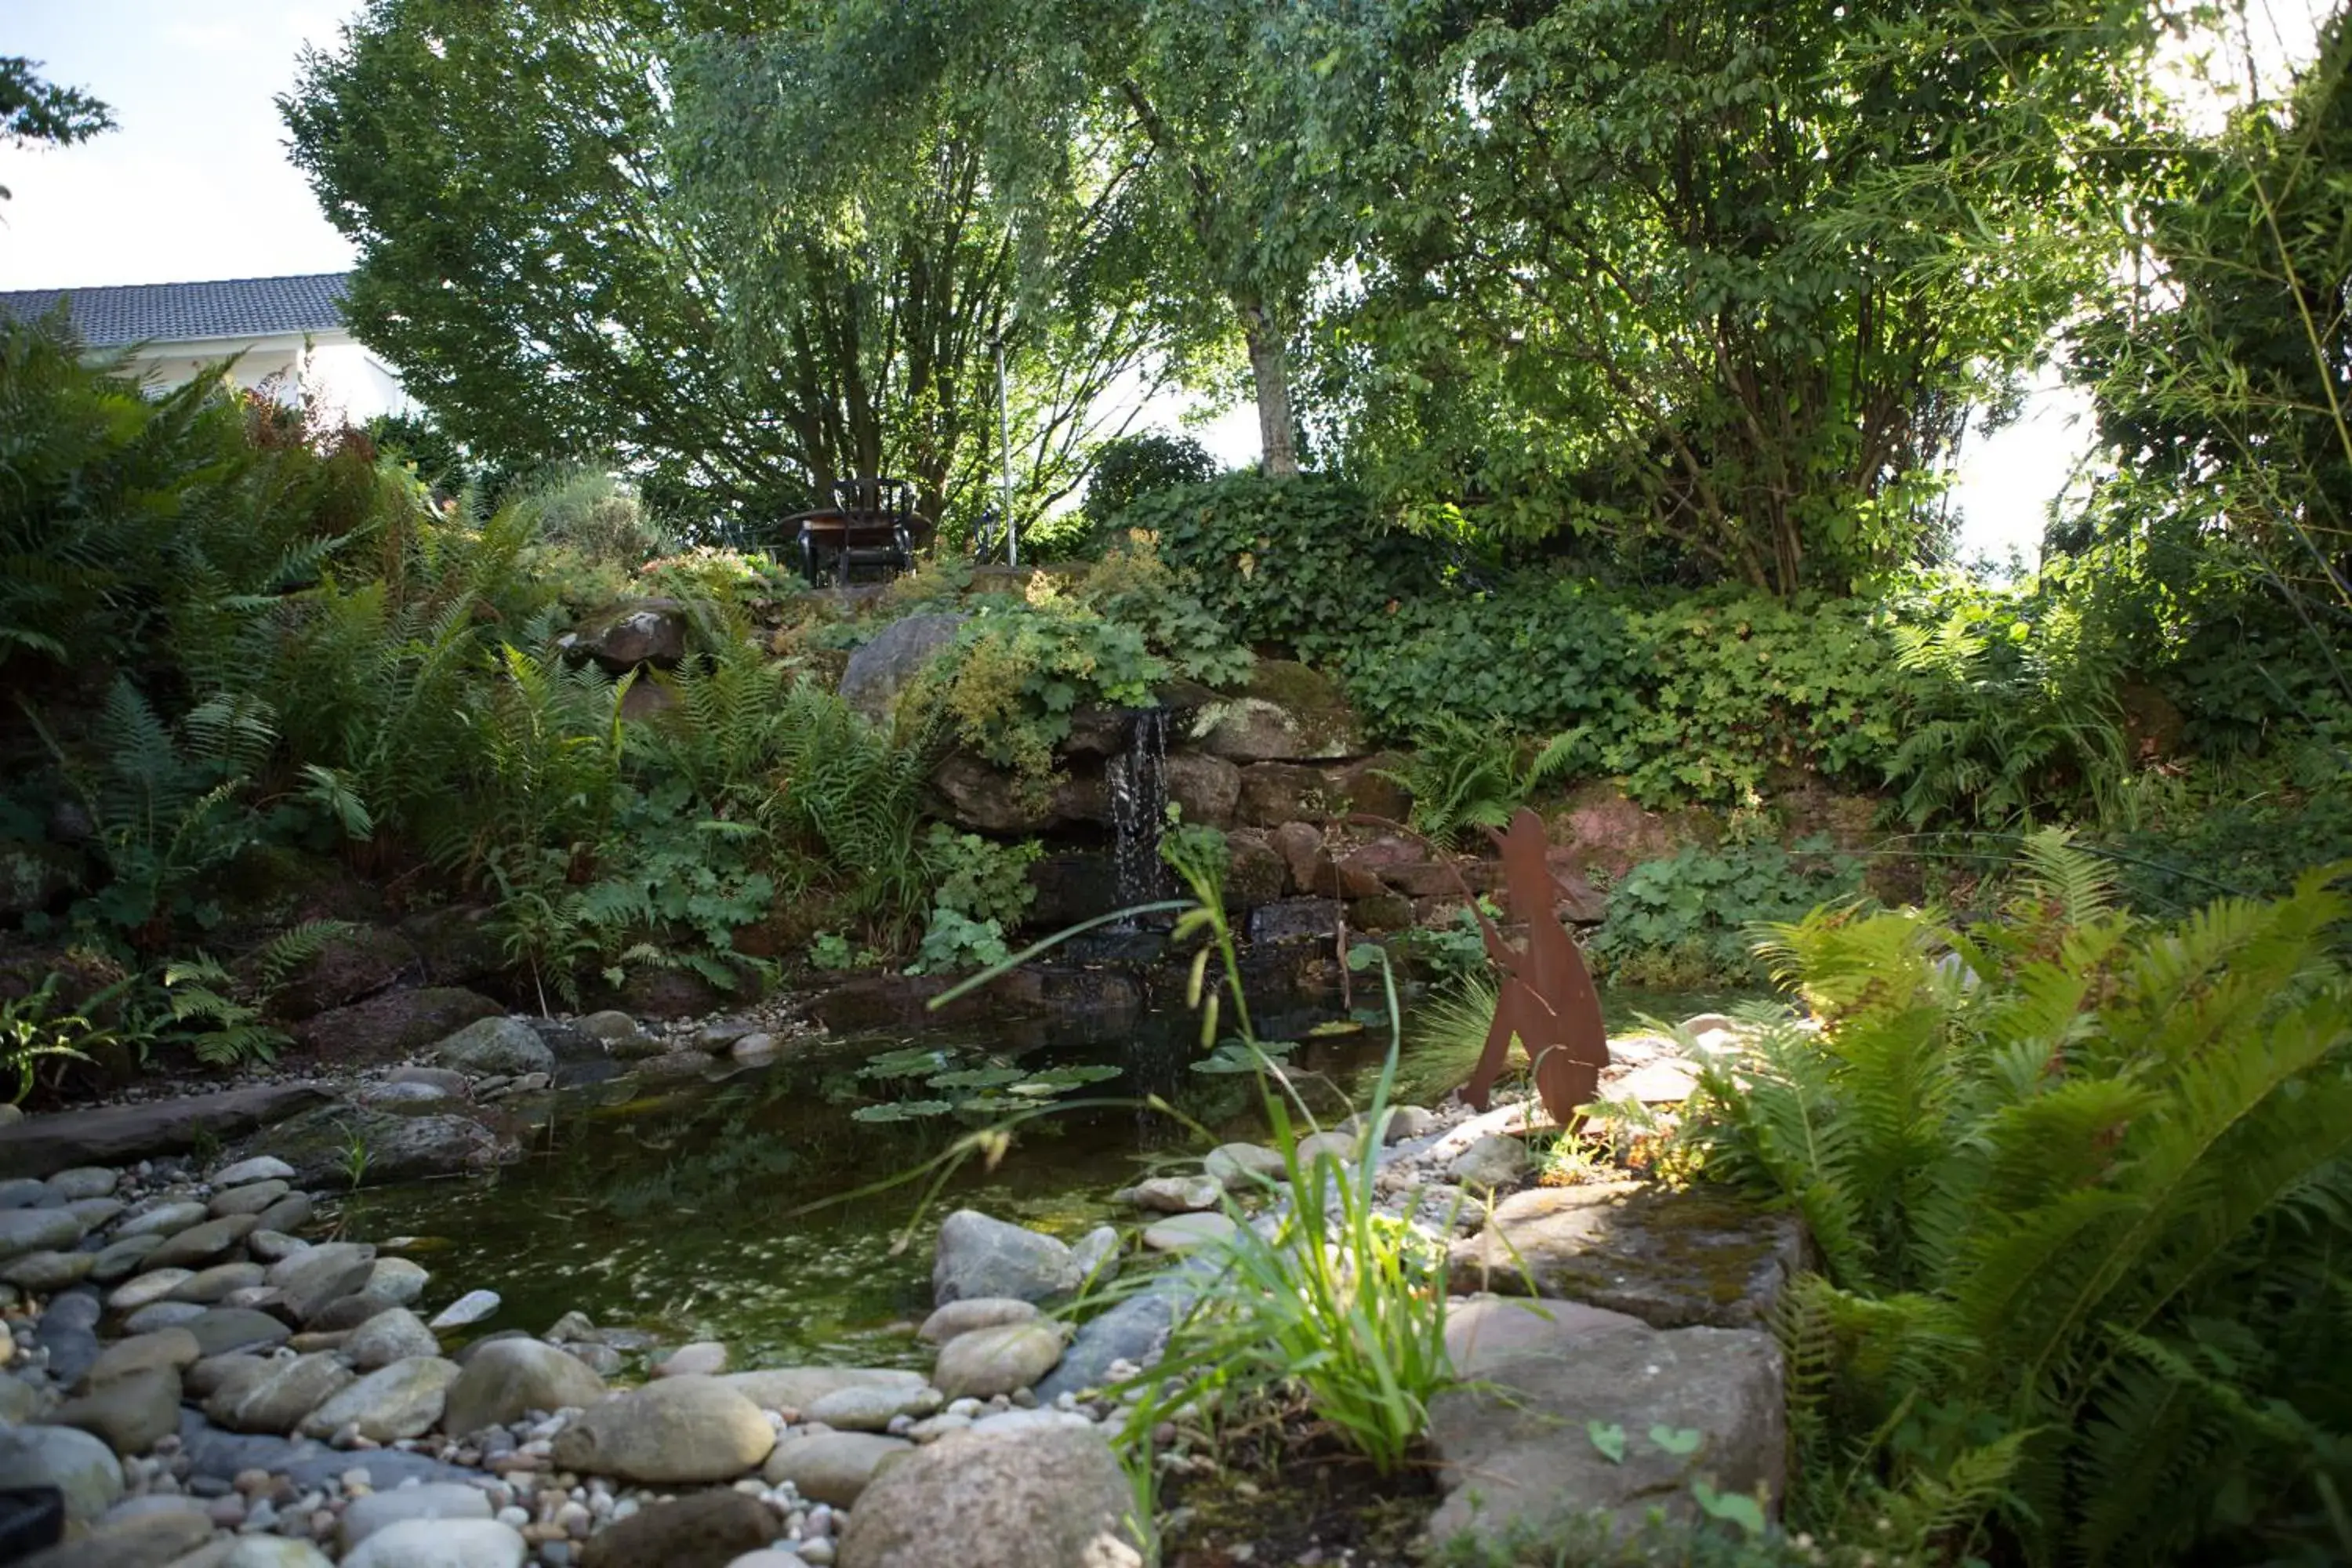
<svg viewBox="0 0 2352 1568"><path fill-rule="evenodd" d="M1809 839L1778 844L1684 844L1635 865L1609 889L1609 919L1585 952L1616 985L1700 987L1764 978L1750 952L1757 924L1790 922L1860 891L1860 863Z"/></svg>

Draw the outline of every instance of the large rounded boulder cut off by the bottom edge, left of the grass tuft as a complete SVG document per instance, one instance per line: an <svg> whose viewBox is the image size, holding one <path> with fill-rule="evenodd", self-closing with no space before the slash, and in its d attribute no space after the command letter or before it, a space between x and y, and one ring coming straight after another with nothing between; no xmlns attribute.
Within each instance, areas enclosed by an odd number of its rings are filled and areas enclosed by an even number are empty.
<svg viewBox="0 0 2352 1568"><path fill-rule="evenodd" d="M957 1432L889 1465L849 1514L840 1568L1138 1568L1134 1490L1094 1432Z"/></svg>

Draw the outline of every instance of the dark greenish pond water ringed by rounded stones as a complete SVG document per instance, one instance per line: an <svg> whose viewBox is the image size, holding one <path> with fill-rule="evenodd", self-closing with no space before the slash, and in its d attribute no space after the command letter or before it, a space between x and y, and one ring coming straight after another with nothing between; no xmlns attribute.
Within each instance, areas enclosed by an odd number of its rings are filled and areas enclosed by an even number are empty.
<svg viewBox="0 0 2352 1568"><path fill-rule="evenodd" d="M1679 1018L1722 997L1604 994L1611 1032L1639 1016ZM1305 1039L1331 1011L1261 1018L1291 1056L1319 1117L1369 1098L1388 1027ZM1406 1023L1411 1041L1411 1020ZM873 1079L882 1053L927 1046L946 1067L1117 1067L1028 1119L985 1168L962 1161L924 1201L936 1161L974 1121L861 1121L877 1100L936 1093L922 1079ZM1411 1051L1411 1044L1406 1046ZM722 1058L724 1060L724 1058ZM906 1058L901 1058L906 1060ZM1131 1220L1110 1194L1155 1166L1197 1159L1216 1140L1258 1138L1249 1077L1192 1072L1197 1025L1145 1018L1117 1039L953 1030L795 1044L781 1060L652 1095L612 1084L569 1091L532 1157L494 1180L358 1192L341 1206L353 1237L402 1246L435 1274L428 1305L492 1288L482 1328L543 1333L567 1309L663 1342L724 1340L736 1366L924 1366L906 1331L931 1305L931 1239L955 1208L1075 1241ZM1000 1074L1002 1077L1002 1074ZM1178 1114L1143 1105L1160 1095ZM901 1246L903 1239L903 1246Z"/></svg>

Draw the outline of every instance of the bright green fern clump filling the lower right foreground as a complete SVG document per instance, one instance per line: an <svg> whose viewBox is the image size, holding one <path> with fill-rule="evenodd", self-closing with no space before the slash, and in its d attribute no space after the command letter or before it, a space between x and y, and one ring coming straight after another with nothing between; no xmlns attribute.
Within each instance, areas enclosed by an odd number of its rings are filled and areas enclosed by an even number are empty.
<svg viewBox="0 0 2352 1568"><path fill-rule="evenodd" d="M1820 1030L1710 1067L1686 1133L1820 1248L1802 1512L2030 1563L2340 1547L2347 914L2310 872L2143 922L2042 832L1997 922L1776 929Z"/></svg>

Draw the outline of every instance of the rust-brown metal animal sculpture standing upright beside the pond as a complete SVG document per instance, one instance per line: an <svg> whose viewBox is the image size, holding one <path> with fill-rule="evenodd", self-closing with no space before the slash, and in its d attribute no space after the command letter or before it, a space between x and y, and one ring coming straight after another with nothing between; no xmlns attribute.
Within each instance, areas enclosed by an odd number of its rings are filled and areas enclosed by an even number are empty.
<svg viewBox="0 0 2352 1568"><path fill-rule="evenodd" d="M1486 1110L1517 1034L1543 1110L1559 1126L1573 1126L1578 1107L1599 1093L1602 1067L1609 1065L1602 997L1576 938L1559 924L1555 905L1562 889L1545 860L1543 818L1522 809L1505 832L1489 830L1489 837L1503 851L1503 896L1510 917L1526 926L1526 950L1505 943L1477 898L1470 900L1503 987L1477 1072L1463 1084L1463 1100Z"/></svg>

